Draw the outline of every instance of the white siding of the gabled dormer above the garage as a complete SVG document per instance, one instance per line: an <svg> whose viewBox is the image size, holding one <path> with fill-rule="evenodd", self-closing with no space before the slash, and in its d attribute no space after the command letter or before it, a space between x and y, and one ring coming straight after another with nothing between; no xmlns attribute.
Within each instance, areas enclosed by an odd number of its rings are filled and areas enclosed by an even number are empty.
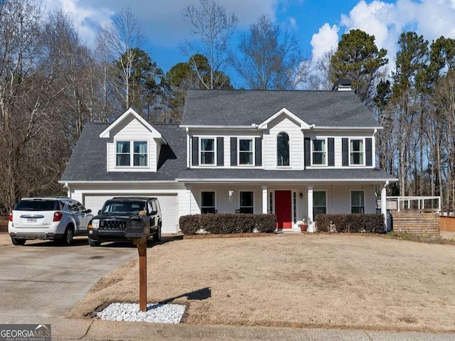
<svg viewBox="0 0 455 341"><path fill-rule="evenodd" d="M151 131L134 117L125 119L122 124L111 131L112 138L107 142L107 171L108 172L156 172L157 160L159 157L159 147L151 137ZM115 167L115 142L116 141L147 141L149 163L146 168L116 168Z"/></svg>

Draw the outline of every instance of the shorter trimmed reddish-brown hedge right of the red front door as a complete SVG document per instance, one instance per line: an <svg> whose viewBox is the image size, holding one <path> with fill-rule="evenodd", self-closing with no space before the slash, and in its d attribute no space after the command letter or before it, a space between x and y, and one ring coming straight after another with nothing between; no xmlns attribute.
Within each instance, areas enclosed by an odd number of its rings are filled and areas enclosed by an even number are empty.
<svg viewBox="0 0 455 341"><path fill-rule="evenodd" d="M380 214L316 215L320 232L384 232L384 216Z"/></svg>

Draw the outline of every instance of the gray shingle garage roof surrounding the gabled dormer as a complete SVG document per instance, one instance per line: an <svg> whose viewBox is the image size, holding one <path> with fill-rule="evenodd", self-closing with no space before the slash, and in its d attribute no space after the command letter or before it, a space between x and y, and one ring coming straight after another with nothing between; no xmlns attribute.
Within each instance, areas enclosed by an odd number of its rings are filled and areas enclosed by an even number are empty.
<svg viewBox="0 0 455 341"><path fill-rule="evenodd" d="M156 124L168 146L161 147L158 171L151 172L107 172L107 139L100 133L109 124L87 124L71 154L70 161L60 181L163 181L175 180L186 168L186 134L176 124Z"/></svg>

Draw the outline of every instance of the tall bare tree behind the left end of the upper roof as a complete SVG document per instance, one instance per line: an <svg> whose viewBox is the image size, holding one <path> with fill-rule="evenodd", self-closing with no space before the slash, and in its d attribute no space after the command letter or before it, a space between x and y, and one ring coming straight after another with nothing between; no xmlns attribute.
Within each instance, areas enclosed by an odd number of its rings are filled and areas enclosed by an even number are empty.
<svg viewBox="0 0 455 341"><path fill-rule="evenodd" d="M196 70L200 82L206 89L214 89L220 85L220 77L224 74L223 67L228 57L229 41L237 27L237 17L226 14L223 6L213 0L200 0L200 6L190 5L183 10L183 20L191 25L191 33L198 41L186 40L182 50L190 58L191 67ZM210 77L205 80L194 55L201 54L208 59ZM221 84L220 87L223 87Z"/></svg>

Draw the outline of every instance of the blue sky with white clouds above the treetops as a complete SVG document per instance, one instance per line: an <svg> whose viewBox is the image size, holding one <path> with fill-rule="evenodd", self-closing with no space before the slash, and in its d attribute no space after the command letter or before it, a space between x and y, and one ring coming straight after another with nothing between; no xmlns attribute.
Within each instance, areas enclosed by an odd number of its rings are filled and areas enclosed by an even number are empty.
<svg viewBox="0 0 455 341"><path fill-rule="evenodd" d="M430 42L439 36L455 38L455 0L219 0L239 18L246 31L262 13L296 33L301 48L314 60L336 48L352 28L375 35L393 61L403 30L412 29ZM46 11L63 9L73 19L82 40L91 45L97 28L125 6L137 16L148 39L151 58L164 71L188 58L178 48L189 28L181 11L198 0L42 0Z"/></svg>

